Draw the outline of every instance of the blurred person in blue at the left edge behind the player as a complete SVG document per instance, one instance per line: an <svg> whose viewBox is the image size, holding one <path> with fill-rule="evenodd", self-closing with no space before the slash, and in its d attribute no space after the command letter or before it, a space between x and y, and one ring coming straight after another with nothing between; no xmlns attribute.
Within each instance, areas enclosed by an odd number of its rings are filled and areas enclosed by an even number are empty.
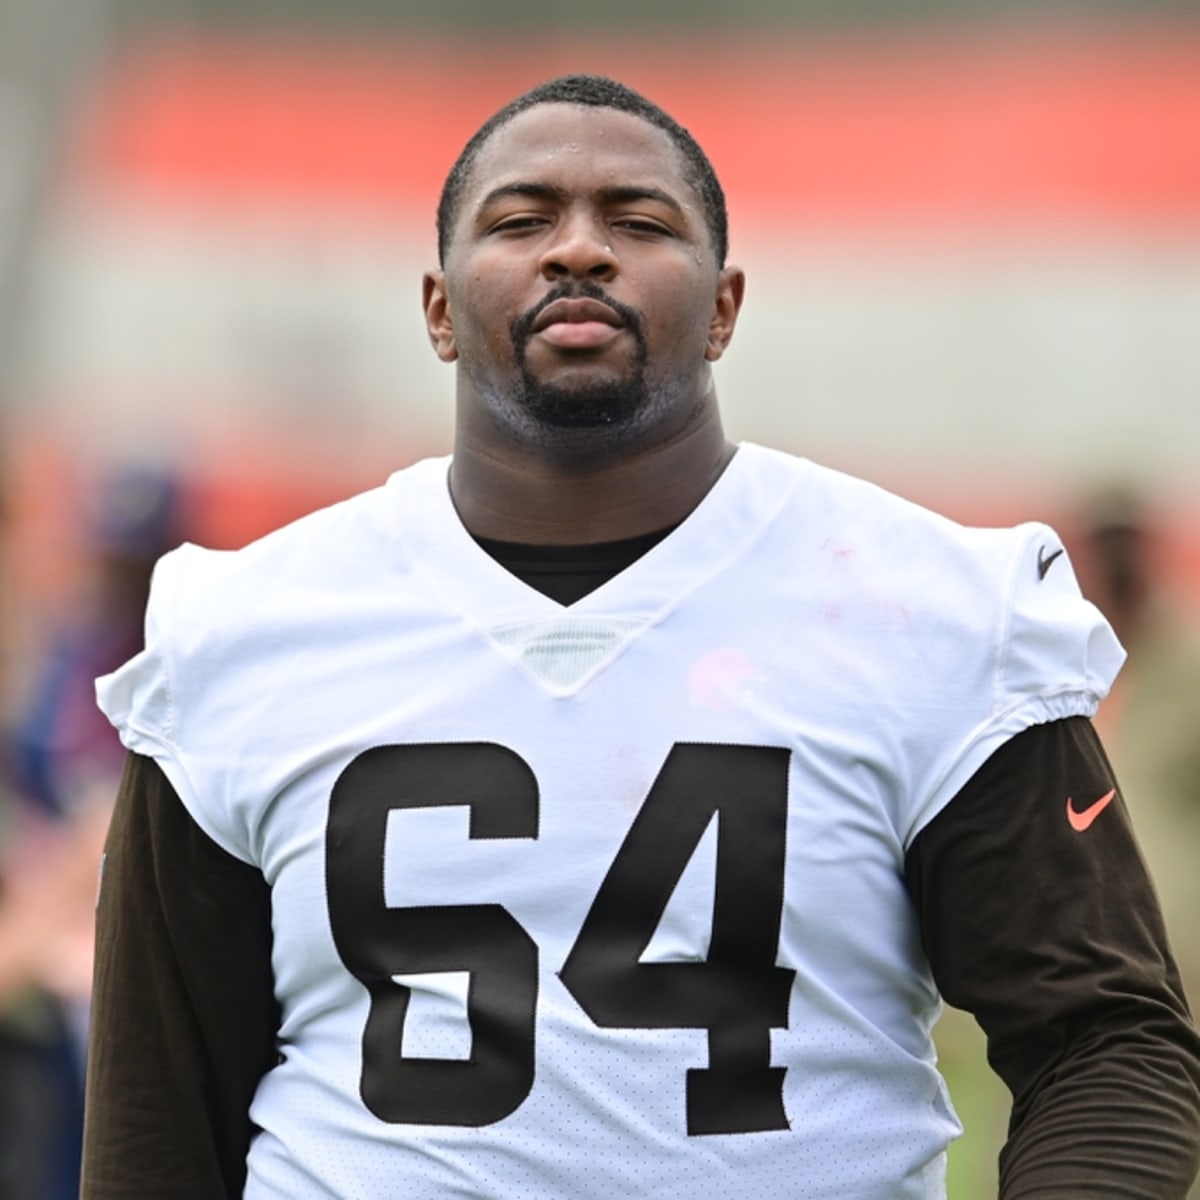
<svg viewBox="0 0 1200 1200"><path fill-rule="evenodd" d="M124 756L95 678L142 644L155 560L179 540L174 482L107 473L79 514L80 590L5 730L0 858L0 1200L73 1200L97 870Z"/></svg>

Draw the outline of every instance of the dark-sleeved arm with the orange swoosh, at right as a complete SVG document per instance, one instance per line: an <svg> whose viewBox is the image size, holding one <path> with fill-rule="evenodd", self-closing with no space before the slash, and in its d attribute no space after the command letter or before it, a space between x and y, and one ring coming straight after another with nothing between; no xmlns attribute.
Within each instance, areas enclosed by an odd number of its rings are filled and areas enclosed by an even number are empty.
<svg viewBox="0 0 1200 1200"><path fill-rule="evenodd" d="M1013 1093L1002 1200L1181 1200L1200 1039L1088 721L1002 746L916 839L906 878L938 988ZM1073 828L1076 812L1088 812Z"/></svg>

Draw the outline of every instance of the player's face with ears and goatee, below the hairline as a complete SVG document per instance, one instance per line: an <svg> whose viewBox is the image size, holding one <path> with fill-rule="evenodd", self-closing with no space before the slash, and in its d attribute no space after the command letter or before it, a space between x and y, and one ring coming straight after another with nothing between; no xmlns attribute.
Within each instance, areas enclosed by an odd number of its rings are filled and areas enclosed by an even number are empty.
<svg viewBox="0 0 1200 1200"><path fill-rule="evenodd" d="M666 133L542 104L484 146L425 299L434 348L458 362L460 421L628 440L704 400L740 272L718 269Z"/></svg>

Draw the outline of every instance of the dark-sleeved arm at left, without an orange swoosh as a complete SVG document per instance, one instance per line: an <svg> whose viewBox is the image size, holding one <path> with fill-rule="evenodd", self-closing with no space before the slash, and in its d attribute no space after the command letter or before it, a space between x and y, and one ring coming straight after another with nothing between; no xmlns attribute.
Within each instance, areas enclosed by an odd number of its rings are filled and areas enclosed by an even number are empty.
<svg viewBox="0 0 1200 1200"><path fill-rule="evenodd" d="M270 894L131 755L96 913L83 1200L233 1200L275 1062Z"/></svg>

